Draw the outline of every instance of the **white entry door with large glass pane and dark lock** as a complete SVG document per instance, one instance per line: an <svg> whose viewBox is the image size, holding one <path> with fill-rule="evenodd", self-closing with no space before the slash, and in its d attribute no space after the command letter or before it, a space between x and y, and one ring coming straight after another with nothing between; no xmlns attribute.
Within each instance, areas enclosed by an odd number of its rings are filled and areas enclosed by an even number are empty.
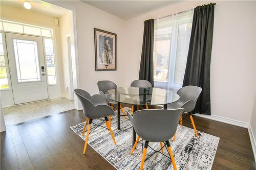
<svg viewBox="0 0 256 170"><path fill-rule="evenodd" d="M14 104L48 99L42 38L6 33Z"/></svg>

